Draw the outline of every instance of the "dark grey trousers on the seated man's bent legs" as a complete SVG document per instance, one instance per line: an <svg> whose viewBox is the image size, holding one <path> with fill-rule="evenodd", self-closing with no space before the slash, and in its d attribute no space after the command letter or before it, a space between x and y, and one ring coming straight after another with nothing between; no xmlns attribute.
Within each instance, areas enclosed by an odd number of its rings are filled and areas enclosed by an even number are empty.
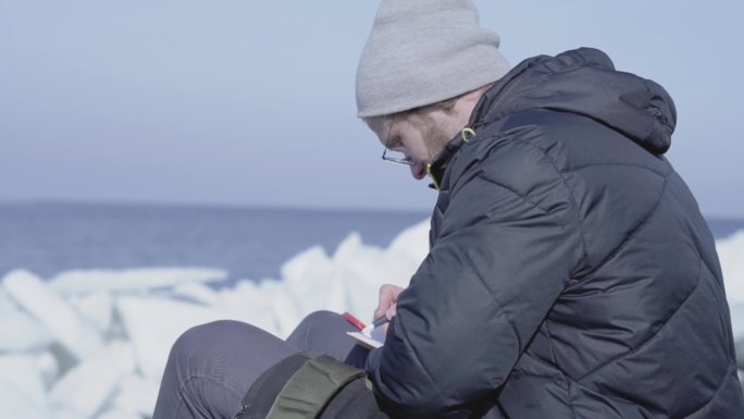
<svg viewBox="0 0 744 419"><path fill-rule="evenodd" d="M346 335L351 330L330 311L305 318L286 341L237 321L193 328L171 348L152 419L232 419L253 381L300 350L362 368L368 350Z"/></svg>

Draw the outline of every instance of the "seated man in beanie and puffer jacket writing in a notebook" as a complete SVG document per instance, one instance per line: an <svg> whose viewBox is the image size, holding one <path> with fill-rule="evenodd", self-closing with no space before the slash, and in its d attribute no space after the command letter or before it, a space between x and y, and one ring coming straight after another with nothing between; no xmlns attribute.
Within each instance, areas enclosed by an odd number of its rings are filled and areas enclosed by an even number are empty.
<svg viewBox="0 0 744 419"><path fill-rule="evenodd" d="M219 416L307 348L365 358L392 417L744 417L714 239L664 158L660 86L594 49L509 71L469 1L383 0L357 102L383 157L438 189L429 256L381 289L385 346L351 355L327 313L287 343L202 326L174 347L156 419Z"/></svg>

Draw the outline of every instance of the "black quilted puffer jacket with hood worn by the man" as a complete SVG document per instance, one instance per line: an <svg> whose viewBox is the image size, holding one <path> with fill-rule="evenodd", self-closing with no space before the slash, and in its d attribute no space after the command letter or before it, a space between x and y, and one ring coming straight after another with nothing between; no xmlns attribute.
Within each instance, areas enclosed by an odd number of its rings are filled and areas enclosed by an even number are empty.
<svg viewBox="0 0 744 419"><path fill-rule="evenodd" d="M714 238L657 84L524 61L471 118L369 374L405 418L744 418ZM700 145L703 146L703 145Z"/></svg>

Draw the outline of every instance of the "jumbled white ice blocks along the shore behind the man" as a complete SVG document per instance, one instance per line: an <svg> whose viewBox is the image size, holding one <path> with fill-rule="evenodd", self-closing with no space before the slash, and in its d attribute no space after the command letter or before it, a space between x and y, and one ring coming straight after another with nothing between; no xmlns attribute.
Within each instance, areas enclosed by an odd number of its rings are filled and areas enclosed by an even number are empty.
<svg viewBox="0 0 744 419"><path fill-rule="evenodd" d="M405 285L427 249L427 222L388 248L352 233L334 255L311 247L281 278L208 286L214 269L5 274L0 286L0 406L14 419L150 416L169 349L188 328L218 319L286 336L318 309L369 318L382 283ZM717 243L735 338L744 352L744 231ZM744 354L743 354L744 355Z"/></svg>

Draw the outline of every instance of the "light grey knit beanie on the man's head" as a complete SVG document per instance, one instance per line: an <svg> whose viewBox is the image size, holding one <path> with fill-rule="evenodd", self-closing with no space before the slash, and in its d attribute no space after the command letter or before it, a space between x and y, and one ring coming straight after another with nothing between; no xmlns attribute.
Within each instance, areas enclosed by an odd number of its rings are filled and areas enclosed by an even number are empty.
<svg viewBox="0 0 744 419"><path fill-rule="evenodd" d="M357 69L357 116L454 98L509 71L470 0L382 0Z"/></svg>

